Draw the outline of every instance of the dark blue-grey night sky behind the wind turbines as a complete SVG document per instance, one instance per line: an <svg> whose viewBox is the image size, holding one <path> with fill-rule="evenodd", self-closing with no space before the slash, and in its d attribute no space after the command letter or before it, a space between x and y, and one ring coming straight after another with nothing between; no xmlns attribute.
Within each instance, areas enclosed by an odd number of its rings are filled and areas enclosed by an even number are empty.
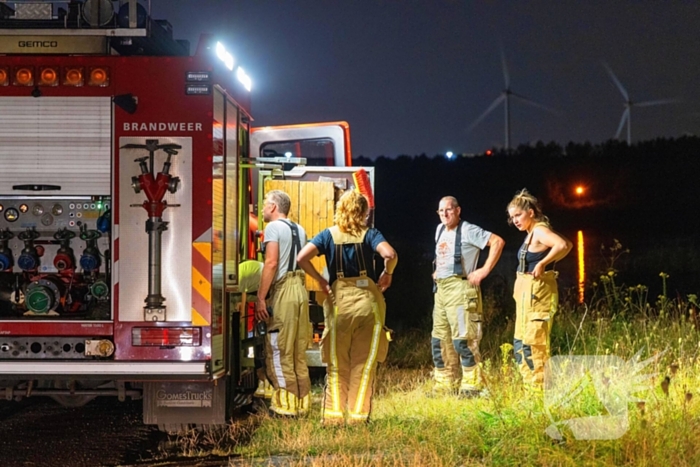
<svg viewBox="0 0 700 467"><path fill-rule="evenodd" d="M481 153L504 144L504 110L472 124L504 89L511 146L599 143L623 97L679 103L632 110L633 141L700 133L700 2L152 0L174 36L219 36L253 79L254 125L346 120L354 156ZM623 137L626 136L623 131Z"/></svg>

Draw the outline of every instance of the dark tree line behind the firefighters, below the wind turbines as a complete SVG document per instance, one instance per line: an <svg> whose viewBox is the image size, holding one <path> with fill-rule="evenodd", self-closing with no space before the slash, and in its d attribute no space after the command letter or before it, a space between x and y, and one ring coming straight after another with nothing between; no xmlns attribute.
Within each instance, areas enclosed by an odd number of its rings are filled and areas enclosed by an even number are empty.
<svg viewBox="0 0 700 467"><path fill-rule="evenodd" d="M554 228L570 239L575 241L583 230L592 248L613 239L629 247L632 253L623 261L633 269L626 271L630 281L650 283L663 268L683 292L700 289L695 286L700 285L700 264L693 260L700 257L700 138L632 146L614 140L598 145L537 143L511 153L493 150L491 156L358 157L353 164L376 168L376 225L400 255L389 291L388 319L395 325L415 325L430 315L433 237L439 222L435 210L445 195L457 197L464 219L507 242L487 286L512 281L523 234L507 225L505 208L526 187L541 200ZM581 195L577 186L584 189ZM575 269L574 256L562 263L563 269ZM601 258L597 267L603 266Z"/></svg>

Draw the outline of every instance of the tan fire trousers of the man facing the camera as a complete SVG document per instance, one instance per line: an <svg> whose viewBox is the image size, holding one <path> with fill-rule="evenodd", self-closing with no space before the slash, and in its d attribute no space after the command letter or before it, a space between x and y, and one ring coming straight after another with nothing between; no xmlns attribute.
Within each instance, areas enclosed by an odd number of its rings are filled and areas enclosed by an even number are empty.
<svg viewBox="0 0 700 467"><path fill-rule="evenodd" d="M459 276L438 279L431 346L438 391L481 387L481 291ZM460 365L461 364L461 365Z"/></svg>

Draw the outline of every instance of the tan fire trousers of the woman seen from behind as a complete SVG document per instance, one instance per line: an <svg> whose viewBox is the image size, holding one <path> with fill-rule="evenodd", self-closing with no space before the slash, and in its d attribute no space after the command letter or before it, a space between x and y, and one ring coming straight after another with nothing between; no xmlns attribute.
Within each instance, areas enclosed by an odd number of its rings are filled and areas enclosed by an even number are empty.
<svg viewBox="0 0 700 467"><path fill-rule="evenodd" d="M323 422L358 423L369 419L377 363L389 347L384 332L386 304L372 279L338 279L324 302L321 355L328 365ZM334 299L334 302L333 302Z"/></svg>

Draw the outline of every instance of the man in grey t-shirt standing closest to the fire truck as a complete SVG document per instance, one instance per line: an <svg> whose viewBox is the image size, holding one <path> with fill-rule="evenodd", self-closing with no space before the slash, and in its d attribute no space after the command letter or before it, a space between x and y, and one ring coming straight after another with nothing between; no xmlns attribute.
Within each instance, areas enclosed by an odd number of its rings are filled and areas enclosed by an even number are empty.
<svg viewBox="0 0 700 467"><path fill-rule="evenodd" d="M265 266L255 318L267 323L265 367L274 388L270 410L295 416L309 411L311 380L306 349L310 332L304 272L296 263L297 253L306 244L306 232L287 219L290 206L283 191L273 190L265 196Z"/></svg>

